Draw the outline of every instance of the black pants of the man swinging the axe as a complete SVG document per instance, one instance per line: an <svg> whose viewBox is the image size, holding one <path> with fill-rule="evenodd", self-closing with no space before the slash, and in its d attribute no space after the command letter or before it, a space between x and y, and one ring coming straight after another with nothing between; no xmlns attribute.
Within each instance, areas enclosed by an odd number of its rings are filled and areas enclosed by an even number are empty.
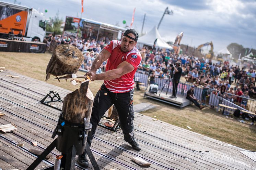
<svg viewBox="0 0 256 170"><path fill-rule="evenodd" d="M93 102L91 115L92 130L89 131L87 138L87 142L90 146L98 123L112 104L114 104L117 109L124 140L126 142L132 142L134 140L133 92L134 90L125 93L112 93L104 84L101 86Z"/></svg>

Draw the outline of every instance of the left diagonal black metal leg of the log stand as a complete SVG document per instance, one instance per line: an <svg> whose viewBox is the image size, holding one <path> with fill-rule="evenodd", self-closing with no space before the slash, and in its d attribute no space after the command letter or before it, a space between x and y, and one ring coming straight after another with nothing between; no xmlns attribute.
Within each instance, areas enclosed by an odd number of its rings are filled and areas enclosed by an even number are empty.
<svg viewBox="0 0 256 170"><path fill-rule="evenodd" d="M55 139L45 150L39 155L36 160L27 168L27 170L34 170L42 160L57 146L57 139Z"/></svg>

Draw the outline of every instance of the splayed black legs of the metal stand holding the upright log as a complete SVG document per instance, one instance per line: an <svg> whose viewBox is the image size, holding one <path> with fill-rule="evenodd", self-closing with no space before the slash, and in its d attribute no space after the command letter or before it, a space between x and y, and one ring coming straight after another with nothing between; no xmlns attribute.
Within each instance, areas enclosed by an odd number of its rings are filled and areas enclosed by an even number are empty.
<svg viewBox="0 0 256 170"><path fill-rule="evenodd" d="M39 155L36 160L26 169L26 170L34 170L39 164L40 162L42 162L42 160L57 146L57 139L55 139L45 150L44 152ZM94 168L94 170L100 170L97 162L91 152L91 149L89 147L89 145L86 142L85 145L85 150L87 152L87 155L89 157L89 159L91 160L92 166ZM74 166L75 166L75 155L76 155L77 151L75 150L75 147L72 146L68 149L68 153L67 154L62 154L63 157L61 159L61 168L64 168L65 170L74 170ZM45 168L44 170L53 170L54 166Z"/></svg>

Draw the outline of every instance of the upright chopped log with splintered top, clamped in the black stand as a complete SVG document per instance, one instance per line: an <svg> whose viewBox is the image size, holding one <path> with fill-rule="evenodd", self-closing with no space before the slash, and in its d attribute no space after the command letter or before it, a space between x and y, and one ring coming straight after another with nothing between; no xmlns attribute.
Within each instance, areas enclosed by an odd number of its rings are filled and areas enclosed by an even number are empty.
<svg viewBox="0 0 256 170"><path fill-rule="evenodd" d="M72 123L84 123L83 118L86 117L86 126L90 123L93 94L88 88L90 80L81 83L79 89L67 94L63 100L62 113L66 121Z"/></svg>

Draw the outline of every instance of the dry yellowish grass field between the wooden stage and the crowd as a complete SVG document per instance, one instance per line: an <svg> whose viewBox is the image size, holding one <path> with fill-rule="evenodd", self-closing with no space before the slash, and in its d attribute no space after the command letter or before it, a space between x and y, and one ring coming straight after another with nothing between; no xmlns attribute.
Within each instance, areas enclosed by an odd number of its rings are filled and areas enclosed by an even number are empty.
<svg viewBox="0 0 256 170"><path fill-rule="evenodd" d="M45 81L45 70L50 60L51 54L35 53L12 53L0 52L0 67L29 76L41 81ZM78 75L84 73L79 72ZM53 77L47 81L50 84L72 90L78 88L65 80L58 82ZM94 81L90 83L90 89L96 94L103 81ZM156 107L147 110L142 114L171 123L172 125L182 127L191 127L191 131L209 136L244 149L256 151L256 126L248 125L250 122L240 123L237 118L229 116L226 118L215 109L204 108L199 110L197 107L187 106L183 109L160 103L154 100L143 99L143 91L135 91L134 104L150 102ZM175 136L173 136L175 138Z"/></svg>

